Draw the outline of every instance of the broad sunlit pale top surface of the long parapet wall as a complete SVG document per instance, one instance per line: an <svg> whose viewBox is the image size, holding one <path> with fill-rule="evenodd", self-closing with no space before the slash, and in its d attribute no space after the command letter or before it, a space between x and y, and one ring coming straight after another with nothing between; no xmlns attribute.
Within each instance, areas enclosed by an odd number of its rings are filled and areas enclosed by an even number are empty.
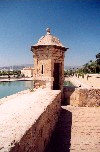
<svg viewBox="0 0 100 152"><path fill-rule="evenodd" d="M35 92L15 95L1 104L0 151L7 152L18 143L60 92L39 88Z"/></svg>

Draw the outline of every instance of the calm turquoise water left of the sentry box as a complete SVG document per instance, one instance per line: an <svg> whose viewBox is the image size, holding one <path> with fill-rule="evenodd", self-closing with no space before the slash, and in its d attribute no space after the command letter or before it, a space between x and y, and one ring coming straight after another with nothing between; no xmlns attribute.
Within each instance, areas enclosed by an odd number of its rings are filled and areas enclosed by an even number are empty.
<svg viewBox="0 0 100 152"><path fill-rule="evenodd" d="M33 81L0 82L0 98L33 88Z"/></svg>

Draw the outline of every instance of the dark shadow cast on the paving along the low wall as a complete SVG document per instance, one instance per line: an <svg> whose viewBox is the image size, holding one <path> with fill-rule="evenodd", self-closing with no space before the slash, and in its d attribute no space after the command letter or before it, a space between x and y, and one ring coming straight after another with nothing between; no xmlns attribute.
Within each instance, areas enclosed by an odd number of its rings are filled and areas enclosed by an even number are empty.
<svg viewBox="0 0 100 152"><path fill-rule="evenodd" d="M45 152L70 152L72 113L61 108L56 128Z"/></svg>

